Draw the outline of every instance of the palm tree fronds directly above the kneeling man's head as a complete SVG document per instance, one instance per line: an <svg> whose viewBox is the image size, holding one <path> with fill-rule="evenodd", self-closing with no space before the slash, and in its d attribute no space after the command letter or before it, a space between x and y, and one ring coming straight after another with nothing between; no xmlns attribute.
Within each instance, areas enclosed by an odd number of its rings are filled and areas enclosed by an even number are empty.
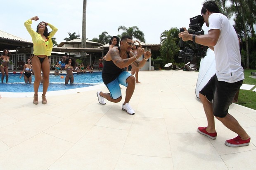
<svg viewBox="0 0 256 170"><path fill-rule="evenodd" d="M129 35L132 38L136 38L139 41L145 42L144 33L140 31L137 26L133 26L129 28L126 28L125 26L119 26L117 31L119 32L119 30L123 30L121 37L123 37L124 35Z"/></svg>

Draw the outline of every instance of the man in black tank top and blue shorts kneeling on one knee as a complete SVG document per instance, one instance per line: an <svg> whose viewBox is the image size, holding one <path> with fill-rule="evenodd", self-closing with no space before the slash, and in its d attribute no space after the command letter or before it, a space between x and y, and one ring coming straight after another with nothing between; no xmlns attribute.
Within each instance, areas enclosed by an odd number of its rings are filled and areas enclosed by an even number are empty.
<svg viewBox="0 0 256 170"><path fill-rule="evenodd" d="M121 38L120 46L113 47L108 51L102 70L102 79L110 93L97 92L100 104L106 104L105 99L118 103L122 99L119 84L126 86L126 97L122 104L122 110L130 115L135 114L134 110L129 105L129 101L135 89L135 77L123 71L123 68L130 64L142 68L147 62L147 59L151 57L150 51L145 52L144 48L140 48L137 55L135 55L130 51L132 46L134 46L132 37L126 35ZM127 55L127 51L129 51L130 57ZM144 55L144 60L138 61L137 59L141 57L142 54Z"/></svg>

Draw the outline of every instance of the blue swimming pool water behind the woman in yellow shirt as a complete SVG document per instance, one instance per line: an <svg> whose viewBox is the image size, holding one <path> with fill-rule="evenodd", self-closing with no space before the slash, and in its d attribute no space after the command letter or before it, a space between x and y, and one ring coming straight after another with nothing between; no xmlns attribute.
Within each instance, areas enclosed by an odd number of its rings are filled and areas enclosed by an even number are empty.
<svg viewBox="0 0 256 170"><path fill-rule="evenodd" d="M32 84L24 83L24 75L9 73L8 83L0 83L0 92L34 92L33 82L35 76L32 76ZM61 78L64 76L64 78ZM55 76L50 74L50 83L47 91L70 90L75 88L90 87L103 83L102 73L93 72L86 74L73 74L74 83L65 85L66 75ZM4 79L5 82L5 79ZM43 84L39 85L38 92L43 92Z"/></svg>

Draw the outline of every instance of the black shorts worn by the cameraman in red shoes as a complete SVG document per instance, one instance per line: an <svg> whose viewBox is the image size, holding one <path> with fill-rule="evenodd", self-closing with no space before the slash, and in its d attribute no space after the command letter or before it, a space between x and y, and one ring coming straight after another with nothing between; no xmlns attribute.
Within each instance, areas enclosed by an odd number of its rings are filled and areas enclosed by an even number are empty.
<svg viewBox="0 0 256 170"><path fill-rule="evenodd" d="M209 82L199 92L213 103L213 115L216 117L225 117L228 114L228 108L232 104L235 94L243 84L243 80L235 83L218 81L216 74L211 77Z"/></svg>

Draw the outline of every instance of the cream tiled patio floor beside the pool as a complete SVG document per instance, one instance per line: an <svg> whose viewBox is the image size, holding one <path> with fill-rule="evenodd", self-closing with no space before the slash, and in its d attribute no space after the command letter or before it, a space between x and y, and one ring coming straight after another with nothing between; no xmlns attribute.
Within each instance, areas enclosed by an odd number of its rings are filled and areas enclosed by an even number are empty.
<svg viewBox="0 0 256 170"><path fill-rule="evenodd" d="M122 102L100 105L103 84L47 92L47 105L34 105L33 93L0 92L0 170L255 170L256 110L229 110L251 136L247 147L225 146L237 135L218 120L216 140L199 134L206 117L197 76L140 71L130 101L135 115Z"/></svg>

